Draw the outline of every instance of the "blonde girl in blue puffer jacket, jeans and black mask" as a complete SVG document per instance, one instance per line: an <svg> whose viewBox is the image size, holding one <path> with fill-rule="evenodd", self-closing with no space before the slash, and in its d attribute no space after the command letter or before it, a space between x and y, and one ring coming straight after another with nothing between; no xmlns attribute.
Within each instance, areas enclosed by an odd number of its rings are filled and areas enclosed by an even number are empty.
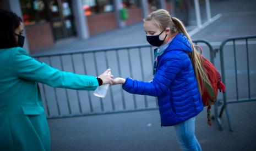
<svg viewBox="0 0 256 151"><path fill-rule="evenodd" d="M113 84L123 84L123 89L132 94L156 96L161 126L174 127L181 149L201 150L194 134L195 116L203 110L198 77L205 81L208 79L201 67L199 53L182 22L172 18L166 10L149 14L144 19L144 30L148 42L158 47L154 79L141 82L116 78ZM194 73L194 69L198 72Z"/></svg>

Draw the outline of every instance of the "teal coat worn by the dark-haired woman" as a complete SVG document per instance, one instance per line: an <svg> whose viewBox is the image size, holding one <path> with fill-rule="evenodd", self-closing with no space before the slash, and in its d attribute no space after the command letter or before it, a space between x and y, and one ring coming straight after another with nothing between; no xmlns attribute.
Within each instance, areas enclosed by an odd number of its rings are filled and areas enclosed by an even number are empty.
<svg viewBox="0 0 256 151"><path fill-rule="evenodd" d="M62 72L30 57L23 48L0 49L0 150L51 150L38 83L95 90L90 75Z"/></svg>

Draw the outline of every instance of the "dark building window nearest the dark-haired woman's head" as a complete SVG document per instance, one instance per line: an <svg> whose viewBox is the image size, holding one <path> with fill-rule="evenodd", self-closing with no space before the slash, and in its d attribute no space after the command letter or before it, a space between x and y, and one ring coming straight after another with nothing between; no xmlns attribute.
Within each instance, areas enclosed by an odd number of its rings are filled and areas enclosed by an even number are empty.
<svg viewBox="0 0 256 151"><path fill-rule="evenodd" d="M20 0L25 25L45 22L45 3L42 0Z"/></svg>

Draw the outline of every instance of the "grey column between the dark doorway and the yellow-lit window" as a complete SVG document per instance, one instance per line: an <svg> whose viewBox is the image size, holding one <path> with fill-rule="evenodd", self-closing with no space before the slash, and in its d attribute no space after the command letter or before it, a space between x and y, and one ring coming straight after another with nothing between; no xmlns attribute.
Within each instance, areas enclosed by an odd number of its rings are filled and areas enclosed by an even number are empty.
<svg viewBox="0 0 256 151"><path fill-rule="evenodd" d="M75 29L80 39L89 38L88 22L84 15L83 3L81 0L72 1Z"/></svg>

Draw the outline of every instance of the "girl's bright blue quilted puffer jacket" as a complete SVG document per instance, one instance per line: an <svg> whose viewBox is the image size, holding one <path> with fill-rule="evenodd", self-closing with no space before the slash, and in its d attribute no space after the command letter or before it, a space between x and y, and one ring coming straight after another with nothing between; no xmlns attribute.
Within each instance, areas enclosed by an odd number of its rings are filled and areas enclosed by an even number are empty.
<svg viewBox="0 0 256 151"><path fill-rule="evenodd" d="M123 84L123 89L132 94L157 96L161 126L181 123L203 110L197 79L187 54L191 52L189 40L179 33L158 57L151 82L127 78Z"/></svg>

